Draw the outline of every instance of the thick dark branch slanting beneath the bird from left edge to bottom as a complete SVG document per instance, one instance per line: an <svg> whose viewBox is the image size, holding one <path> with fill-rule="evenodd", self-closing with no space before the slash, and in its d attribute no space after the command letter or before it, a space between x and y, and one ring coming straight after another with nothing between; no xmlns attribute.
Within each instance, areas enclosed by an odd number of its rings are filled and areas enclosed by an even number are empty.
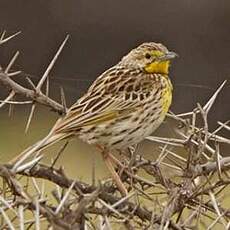
<svg viewBox="0 0 230 230"><path fill-rule="evenodd" d="M0 171L8 172L7 174L6 173L1 174L0 176L4 177L7 180L12 180L13 175L11 174L10 165L0 165ZM141 207L140 205L137 205L126 199L123 199L123 202L120 202L121 198L117 197L116 195L113 195L110 192L111 190L110 187L102 186L102 185L99 185L99 187L92 186L82 181L69 179L65 176L62 169L58 170L58 169L54 169L54 168L51 168L43 164L37 164L36 166L32 167L30 170L21 171L18 174L27 176L27 177L42 178L45 180L49 180L59 185L61 188L69 188L74 182L74 186L72 190L76 192L76 194L78 194L79 196L82 196L82 194L89 194L89 193L94 194L91 202L95 199L95 193L96 193L98 198L102 199L107 204L114 205L119 202L119 205L116 205L116 209L121 214L130 215L130 213L133 212L133 215L139 217L142 221L152 221L153 223L158 223L158 224L162 222L161 216L155 215L153 219L152 212L146 208ZM13 190L15 190L14 187L13 187ZM30 207L34 209L35 208L34 203L31 203ZM47 212L45 213L47 215ZM102 214L105 214L105 213L102 213ZM172 221L170 221L169 227L175 230L182 229L177 224L173 223Z"/></svg>

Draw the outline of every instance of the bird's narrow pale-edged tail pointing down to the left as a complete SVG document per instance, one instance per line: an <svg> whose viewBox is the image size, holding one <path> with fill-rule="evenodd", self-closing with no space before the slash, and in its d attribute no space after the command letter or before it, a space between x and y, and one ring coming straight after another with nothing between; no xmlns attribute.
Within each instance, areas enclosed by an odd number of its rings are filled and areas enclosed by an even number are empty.
<svg viewBox="0 0 230 230"><path fill-rule="evenodd" d="M33 154L40 153L42 150L46 149L47 147L53 145L54 143L63 140L69 137L68 134L65 133L54 133L52 130L51 132L42 140L36 142L34 145L28 147L15 158L13 158L9 163L14 165L14 168L18 168L23 162L29 159Z"/></svg>

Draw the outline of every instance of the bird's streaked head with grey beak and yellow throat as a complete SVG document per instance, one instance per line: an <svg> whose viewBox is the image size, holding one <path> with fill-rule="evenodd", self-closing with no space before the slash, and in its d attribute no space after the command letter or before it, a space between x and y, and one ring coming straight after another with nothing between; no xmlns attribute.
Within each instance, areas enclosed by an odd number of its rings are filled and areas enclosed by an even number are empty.
<svg viewBox="0 0 230 230"><path fill-rule="evenodd" d="M141 68L147 73L168 74L171 59L176 53L154 42L143 43L124 56L120 64Z"/></svg>

